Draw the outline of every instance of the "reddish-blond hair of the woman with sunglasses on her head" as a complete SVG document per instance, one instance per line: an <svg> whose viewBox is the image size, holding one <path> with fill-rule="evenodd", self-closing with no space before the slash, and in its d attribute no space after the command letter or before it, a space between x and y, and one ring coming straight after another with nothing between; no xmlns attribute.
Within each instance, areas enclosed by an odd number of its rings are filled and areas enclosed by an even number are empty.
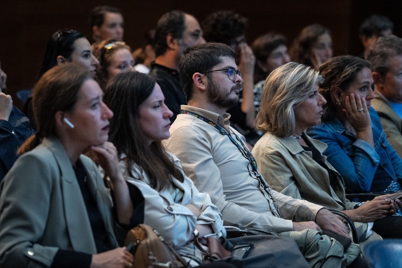
<svg viewBox="0 0 402 268"><path fill-rule="evenodd" d="M108 44L113 44L113 46L105 47ZM119 49L128 49L131 53L131 47L123 41L112 39L92 44L92 49L95 58L99 61L99 65L96 67L96 81L99 83L100 88L105 90L107 81L109 80L108 68L112 55Z"/></svg>

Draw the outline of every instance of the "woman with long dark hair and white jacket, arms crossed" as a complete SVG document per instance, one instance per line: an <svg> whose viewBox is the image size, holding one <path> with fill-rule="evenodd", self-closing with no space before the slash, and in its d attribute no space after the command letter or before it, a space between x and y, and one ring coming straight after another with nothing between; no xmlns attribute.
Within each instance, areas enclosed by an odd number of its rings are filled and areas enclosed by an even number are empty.
<svg viewBox="0 0 402 268"><path fill-rule="evenodd" d="M174 245L187 258L191 256L191 266L198 266L201 263L195 260L202 260L203 257L193 242L194 236L203 239L205 235L213 234L224 239L226 230L222 215L209 195L198 192L183 172L179 160L162 146L161 141L170 135L169 118L173 113L164 104L159 85L146 74L119 74L108 85L105 101L118 118L111 120L110 140L116 142L120 166L133 200L130 225L150 225L167 243ZM155 109L156 105L158 109ZM121 120L129 124L121 124ZM248 257L241 261L234 258L234 263L241 262L242 267L267 266L272 252L262 253L258 249L258 241L269 241L265 237L257 237L255 249ZM249 238L229 241L235 245L235 242L246 242ZM233 245L227 249L232 251ZM258 260L253 258L255 256ZM220 267L219 263L215 266Z"/></svg>

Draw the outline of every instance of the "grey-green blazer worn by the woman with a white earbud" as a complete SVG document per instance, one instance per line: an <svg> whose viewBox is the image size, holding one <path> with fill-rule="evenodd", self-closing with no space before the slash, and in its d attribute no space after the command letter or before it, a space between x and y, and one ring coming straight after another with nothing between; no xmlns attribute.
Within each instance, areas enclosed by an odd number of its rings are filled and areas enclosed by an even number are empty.
<svg viewBox="0 0 402 268"><path fill-rule="evenodd" d="M112 202L96 165L81 155L111 246ZM57 138L22 155L0 185L0 266L48 267L59 249L96 254L80 186Z"/></svg>

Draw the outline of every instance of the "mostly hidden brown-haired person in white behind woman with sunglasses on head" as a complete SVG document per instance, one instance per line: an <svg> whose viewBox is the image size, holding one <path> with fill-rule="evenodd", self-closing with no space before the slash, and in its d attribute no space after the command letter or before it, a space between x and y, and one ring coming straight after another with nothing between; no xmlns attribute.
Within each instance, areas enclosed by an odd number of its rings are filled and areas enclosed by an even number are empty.
<svg viewBox="0 0 402 268"><path fill-rule="evenodd" d="M148 31L144 44L142 47L133 51L133 58L135 60L134 69L137 72L149 74L151 70L151 63L155 61L155 49L152 46L155 39L155 30Z"/></svg>

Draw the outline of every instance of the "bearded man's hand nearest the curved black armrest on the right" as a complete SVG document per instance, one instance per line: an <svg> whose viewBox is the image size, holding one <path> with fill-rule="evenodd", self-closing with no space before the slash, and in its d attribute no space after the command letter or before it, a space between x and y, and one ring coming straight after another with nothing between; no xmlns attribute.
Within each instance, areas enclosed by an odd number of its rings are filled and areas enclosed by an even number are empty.
<svg viewBox="0 0 402 268"><path fill-rule="evenodd" d="M316 223L322 230L332 231L342 237L351 238L343 222L326 208L318 210Z"/></svg>

